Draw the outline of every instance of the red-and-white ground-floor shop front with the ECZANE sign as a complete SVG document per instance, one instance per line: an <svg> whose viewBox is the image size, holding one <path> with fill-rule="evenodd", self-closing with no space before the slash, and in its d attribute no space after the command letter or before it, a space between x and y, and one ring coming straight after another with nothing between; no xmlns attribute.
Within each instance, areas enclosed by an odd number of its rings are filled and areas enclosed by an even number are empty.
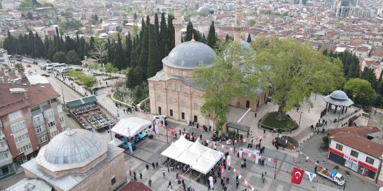
<svg viewBox="0 0 383 191"><path fill-rule="evenodd" d="M350 155L346 155L340 151L337 151L336 149L329 147L327 159L339 165L342 165L346 168L349 168L350 170L356 173L359 173L360 175L371 178L372 180L376 179L375 176L376 176L376 172L378 171L377 168L365 162L362 162L358 159L355 159L355 157L352 157Z"/></svg>

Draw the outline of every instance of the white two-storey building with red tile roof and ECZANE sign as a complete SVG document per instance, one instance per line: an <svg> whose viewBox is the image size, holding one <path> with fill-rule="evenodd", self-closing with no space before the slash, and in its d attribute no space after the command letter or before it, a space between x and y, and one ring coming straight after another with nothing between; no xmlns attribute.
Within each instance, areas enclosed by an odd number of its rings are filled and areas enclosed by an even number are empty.
<svg viewBox="0 0 383 191"><path fill-rule="evenodd" d="M383 159L382 132L376 127L349 126L329 129L327 159L364 178L378 181Z"/></svg>

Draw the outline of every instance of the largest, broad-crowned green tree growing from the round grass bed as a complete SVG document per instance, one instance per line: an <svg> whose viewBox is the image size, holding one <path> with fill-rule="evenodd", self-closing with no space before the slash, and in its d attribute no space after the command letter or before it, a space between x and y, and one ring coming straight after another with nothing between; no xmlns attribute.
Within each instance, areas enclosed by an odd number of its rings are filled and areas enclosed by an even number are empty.
<svg viewBox="0 0 383 191"><path fill-rule="evenodd" d="M255 51L246 56L245 70L259 71L248 76L250 84L259 83L263 90L271 84L275 89L273 102L279 106L277 120L304 102L312 106L309 97L315 89L332 91L344 82L340 60L327 58L308 44L258 37L252 48Z"/></svg>

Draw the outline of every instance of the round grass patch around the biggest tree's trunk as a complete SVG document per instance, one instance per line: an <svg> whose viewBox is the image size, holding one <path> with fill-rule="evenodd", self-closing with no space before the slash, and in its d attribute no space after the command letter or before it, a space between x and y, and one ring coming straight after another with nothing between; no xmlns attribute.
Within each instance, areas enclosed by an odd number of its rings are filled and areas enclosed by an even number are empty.
<svg viewBox="0 0 383 191"><path fill-rule="evenodd" d="M264 126L268 126L271 128L277 129L292 129L295 127L295 122L287 117L283 118L283 120L277 120L278 112L270 112L268 113L261 121L261 124Z"/></svg>

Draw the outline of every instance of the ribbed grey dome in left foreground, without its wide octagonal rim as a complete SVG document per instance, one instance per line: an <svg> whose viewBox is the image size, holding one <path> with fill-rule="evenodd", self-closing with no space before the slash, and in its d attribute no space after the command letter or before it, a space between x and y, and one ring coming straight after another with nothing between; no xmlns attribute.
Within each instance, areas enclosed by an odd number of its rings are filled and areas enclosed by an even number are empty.
<svg viewBox="0 0 383 191"><path fill-rule="evenodd" d="M96 154L105 153L98 153L105 150L101 147L105 147L105 144L95 133L85 129L67 130L51 139L46 146L44 158L56 165L85 162Z"/></svg>

